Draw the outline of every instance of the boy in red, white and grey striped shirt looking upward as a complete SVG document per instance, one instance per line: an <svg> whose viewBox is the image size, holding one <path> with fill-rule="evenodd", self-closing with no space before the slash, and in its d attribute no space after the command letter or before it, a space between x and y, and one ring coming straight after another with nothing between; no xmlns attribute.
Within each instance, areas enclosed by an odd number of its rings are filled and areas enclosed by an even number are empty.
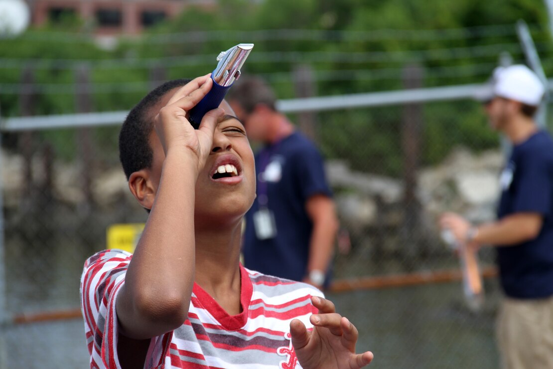
<svg viewBox="0 0 553 369"><path fill-rule="evenodd" d="M121 129L129 189L150 214L134 254L103 251L85 263L91 367L368 365L371 352L355 354L357 329L319 290L240 265L253 153L224 101L192 128L186 112L212 80L185 82L150 92Z"/></svg>

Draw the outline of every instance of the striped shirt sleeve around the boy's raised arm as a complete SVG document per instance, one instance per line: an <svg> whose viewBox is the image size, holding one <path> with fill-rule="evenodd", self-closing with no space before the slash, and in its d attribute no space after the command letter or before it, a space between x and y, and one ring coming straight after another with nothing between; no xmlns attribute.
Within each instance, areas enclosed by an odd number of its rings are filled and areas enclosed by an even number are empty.
<svg viewBox="0 0 553 369"><path fill-rule="evenodd" d="M122 250L98 252L85 262L81 276L81 310L91 367L119 369L116 299L124 284L132 254ZM163 362L172 332L154 337L146 357L149 367Z"/></svg>

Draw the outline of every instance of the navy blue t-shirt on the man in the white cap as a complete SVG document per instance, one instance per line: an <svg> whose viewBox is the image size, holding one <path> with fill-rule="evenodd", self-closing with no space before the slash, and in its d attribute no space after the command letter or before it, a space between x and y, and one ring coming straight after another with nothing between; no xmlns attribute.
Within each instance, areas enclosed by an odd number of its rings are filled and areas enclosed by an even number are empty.
<svg viewBox="0 0 553 369"><path fill-rule="evenodd" d="M498 218L534 212L544 222L538 237L520 245L498 247L505 294L535 299L553 295L553 140L539 131L515 145L500 179Z"/></svg>

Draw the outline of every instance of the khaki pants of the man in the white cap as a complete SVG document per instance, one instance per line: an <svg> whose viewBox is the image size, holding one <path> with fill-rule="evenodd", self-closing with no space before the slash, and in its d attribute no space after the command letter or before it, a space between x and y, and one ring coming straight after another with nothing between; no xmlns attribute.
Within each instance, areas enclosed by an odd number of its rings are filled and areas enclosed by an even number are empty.
<svg viewBox="0 0 553 369"><path fill-rule="evenodd" d="M503 369L553 368L553 297L505 298L497 318Z"/></svg>

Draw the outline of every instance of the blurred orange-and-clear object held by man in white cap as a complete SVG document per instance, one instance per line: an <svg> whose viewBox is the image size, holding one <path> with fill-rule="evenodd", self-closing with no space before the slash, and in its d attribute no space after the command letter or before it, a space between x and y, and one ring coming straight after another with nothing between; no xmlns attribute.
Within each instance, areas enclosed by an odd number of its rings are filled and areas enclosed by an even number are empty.
<svg viewBox="0 0 553 369"><path fill-rule="evenodd" d="M476 251L457 242L451 230L443 230L441 236L448 246L459 252L459 262L463 273L463 293L468 308L472 311L480 310L484 303L484 288Z"/></svg>

